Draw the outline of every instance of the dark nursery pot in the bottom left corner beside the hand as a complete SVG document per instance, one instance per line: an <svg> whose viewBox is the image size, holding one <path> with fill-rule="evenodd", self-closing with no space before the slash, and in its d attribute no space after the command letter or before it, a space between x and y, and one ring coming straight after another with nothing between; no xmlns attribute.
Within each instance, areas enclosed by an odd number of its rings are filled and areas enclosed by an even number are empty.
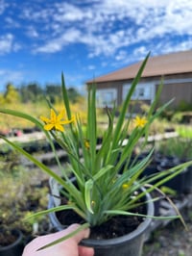
<svg viewBox="0 0 192 256"><path fill-rule="evenodd" d="M12 235L17 239L7 246L0 246L0 256L21 256L23 252L23 235L19 229L12 230Z"/></svg>

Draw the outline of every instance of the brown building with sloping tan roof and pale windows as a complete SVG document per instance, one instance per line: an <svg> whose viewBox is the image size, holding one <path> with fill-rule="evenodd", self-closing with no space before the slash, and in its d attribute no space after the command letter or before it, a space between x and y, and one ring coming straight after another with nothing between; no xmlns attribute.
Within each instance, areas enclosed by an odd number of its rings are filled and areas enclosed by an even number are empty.
<svg viewBox="0 0 192 256"><path fill-rule="evenodd" d="M114 100L117 105L121 105L141 63L131 64L94 79L98 107L110 107ZM192 106L192 50L150 57L132 100L151 103L162 78L164 86L160 96L161 104L175 98L170 106L173 109L180 104ZM86 84L92 82L87 81Z"/></svg>

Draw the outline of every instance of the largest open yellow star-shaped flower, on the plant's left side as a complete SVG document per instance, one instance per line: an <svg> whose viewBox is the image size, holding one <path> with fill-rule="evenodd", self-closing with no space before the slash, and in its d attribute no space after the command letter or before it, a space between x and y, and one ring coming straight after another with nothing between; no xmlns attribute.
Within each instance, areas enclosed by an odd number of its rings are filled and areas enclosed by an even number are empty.
<svg viewBox="0 0 192 256"><path fill-rule="evenodd" d="M60 112L59 115L55 113L53 109L51 109L50 119L45 116L40 116L40 119L45 123L44 129L46 131L50 131L56 129L60 132L64 131L63 124L68 124L74 121L74 118L70 120L64 120L65 112L64 110Z"/></svg>

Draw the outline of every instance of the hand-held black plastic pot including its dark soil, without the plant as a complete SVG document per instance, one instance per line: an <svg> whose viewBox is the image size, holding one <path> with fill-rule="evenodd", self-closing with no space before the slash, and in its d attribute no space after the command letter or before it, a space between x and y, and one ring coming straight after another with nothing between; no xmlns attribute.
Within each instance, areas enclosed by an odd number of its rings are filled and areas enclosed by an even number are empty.
<svg viewBox="0 0 192 256"><path fill-rule="evenodd" d="M146 194L148 204L143 204L135 212L154 215L154 204L151 196ZM50 197L49 208L54 206L53 196ZM72 223L84 223L84 220L72 211L50 213L50 220L56 230L62 230ZM95 256L140 256L145 232L151 223L151 218L117 216L108 222L90 228L90 237L81 242L84 246L93 247Z"/></svg>

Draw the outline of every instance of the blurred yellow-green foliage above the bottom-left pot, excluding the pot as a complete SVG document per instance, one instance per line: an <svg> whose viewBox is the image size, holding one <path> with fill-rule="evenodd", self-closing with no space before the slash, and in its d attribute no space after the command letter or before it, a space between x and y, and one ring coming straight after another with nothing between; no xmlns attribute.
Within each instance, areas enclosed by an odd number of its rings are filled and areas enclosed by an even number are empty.
<svg viewBox="0 0 192 256"><path fill-rule="evenodd" d="M34 172L31 170L30 174L33 175ZM23 219L36 211L46 209L48 189L32 186L31 177L22 169L17 169L16 176L12 172L1 170L0 177L0 244L2 245L9 243L8 234L12 234L13 229L19 229L25 236L31 236L36 231L36 226L39 231L41 222L45 222L44 217L34 218L33 222L31 219L29 221Z"/></svg>

